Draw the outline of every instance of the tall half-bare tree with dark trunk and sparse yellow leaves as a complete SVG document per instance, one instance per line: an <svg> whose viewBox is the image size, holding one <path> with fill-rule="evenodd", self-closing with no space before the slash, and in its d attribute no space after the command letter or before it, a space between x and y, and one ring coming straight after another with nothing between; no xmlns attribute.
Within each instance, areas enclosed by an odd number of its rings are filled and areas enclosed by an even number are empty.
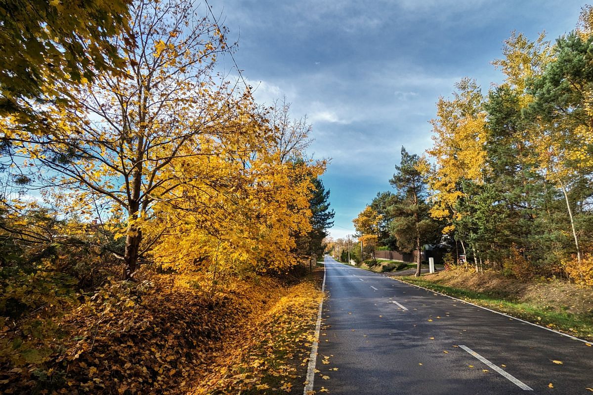
<svg viewBox="0 0 593 395"><path fill-rule="evenodd" d="M238 94L213 72L225 33L195 10L193 1L136 2L135 42L113 40L122 73L58 86L71 103L47 110L52 133L27 132L17 119L2 125L15 131L23 182L62 190L69 211L98 216L102 231L125 238L122 248L101 247L122 259L126 278L168 232L152 231L163 206L184 209L184 187L197 177L214 189L239 183L228 167L247 166L270 138L248 89Z"/></svg>

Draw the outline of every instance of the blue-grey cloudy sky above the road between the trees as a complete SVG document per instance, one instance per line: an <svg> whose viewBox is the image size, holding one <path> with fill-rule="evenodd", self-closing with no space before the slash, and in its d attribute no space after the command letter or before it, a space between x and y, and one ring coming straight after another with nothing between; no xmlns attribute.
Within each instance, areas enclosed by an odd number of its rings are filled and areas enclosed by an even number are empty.
<svg viewBox="0 0 593 395"><path fill-rule="evenodd" d="M307 116L311 153L329 158L323 182L336 211L333 237L388 180L400 148L431 146L439 96L461 77L484 90L502 79L513 30L554 40L575 27L583 2L565 0L219 0L210 2L238 40L234 57L260 103L286 96ZM225 67L233 67L225 59Z"/></svg>

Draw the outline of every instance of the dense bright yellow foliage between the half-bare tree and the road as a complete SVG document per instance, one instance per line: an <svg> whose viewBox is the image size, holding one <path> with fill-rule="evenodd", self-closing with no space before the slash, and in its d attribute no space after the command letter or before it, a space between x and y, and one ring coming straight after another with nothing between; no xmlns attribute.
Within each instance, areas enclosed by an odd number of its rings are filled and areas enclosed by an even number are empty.
<svg viewBox="0 0 593 395"><path fill-rule="evenodd" d="M222 159L184 160L183 174L196 177L180 186L185 199L175 211L155 205L162 215L149 232L167 231L152 248L154 261L181 271L282 271L296 264L295 235L310 230L311 177L323 167L263 154L249 167Z"/></svg>

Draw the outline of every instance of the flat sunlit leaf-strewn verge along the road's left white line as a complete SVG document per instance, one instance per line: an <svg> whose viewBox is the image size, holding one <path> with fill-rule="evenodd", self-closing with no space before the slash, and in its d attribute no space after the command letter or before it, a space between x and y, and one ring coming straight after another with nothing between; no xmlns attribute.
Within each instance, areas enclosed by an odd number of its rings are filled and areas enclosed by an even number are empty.
<svg viewBox="0 0 593 395"><path fill-rule="evenodd" d="M322 296L309 281L285 289L283 296L263 311L246 331L213 355L212 364L197 380L200 384L189 394L231 395L263 390L270 388L266 383L270 377L274 377L282 391L291 392L291 380L297 378L297 368L291 364L291 359L299 348L306 348L308 356ZM308 358L304 358L301 365L307 361ZM298 381L302 383L304 377Z"/></svg>

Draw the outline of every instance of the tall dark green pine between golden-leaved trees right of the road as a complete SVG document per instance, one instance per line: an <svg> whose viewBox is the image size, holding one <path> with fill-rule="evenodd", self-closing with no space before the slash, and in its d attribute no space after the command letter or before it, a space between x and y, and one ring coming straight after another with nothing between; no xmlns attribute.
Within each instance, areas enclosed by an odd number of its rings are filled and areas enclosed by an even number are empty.
<svg viewBox="0 0 593 395"><path fill-rule="evenodd" d="M495 262L516 253L537 260L547 195L533 150L525 143L529 124L521 114L517 92L508 86L491 91L485 106L488 171L484 172L484 196L477 200L490 207L482 211L479 222L484 235L480 250Z"/></svg>

